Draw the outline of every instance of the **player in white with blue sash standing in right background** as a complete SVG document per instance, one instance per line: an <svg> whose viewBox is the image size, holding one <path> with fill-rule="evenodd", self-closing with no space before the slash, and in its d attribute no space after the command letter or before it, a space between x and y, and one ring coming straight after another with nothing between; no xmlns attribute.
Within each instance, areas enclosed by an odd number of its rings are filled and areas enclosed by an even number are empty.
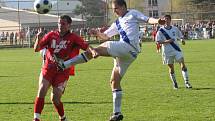
<svg viewBox="0 0 215 121"><path fill-rule="evenodd" d="M183 53L177 42L177 39L181 39L182 44L185 45L183 35L177 27L171 25L170 15L165 15L164 20L165 25L158 30L156 35L156 42L158 44L162 44L163 64L168 65L170 79L173 82L174 89L178 89L174 71L174 61L180 64L182 76L185 81L185 87L192 88L189 83L188 70L185 66Z"/></svg>

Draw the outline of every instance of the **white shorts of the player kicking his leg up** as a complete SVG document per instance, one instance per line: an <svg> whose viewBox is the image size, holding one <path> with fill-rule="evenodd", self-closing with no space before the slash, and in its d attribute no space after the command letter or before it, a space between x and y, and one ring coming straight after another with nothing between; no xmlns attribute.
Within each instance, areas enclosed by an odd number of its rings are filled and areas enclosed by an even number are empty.
<svg viewBox="0 0 215 121"><path fill-rule="evenodd" d="M107 47L109 55L114 57L114 68L119 68L121 77L138 55L138 52L124 41L107 41L100 46Z"/></svg>

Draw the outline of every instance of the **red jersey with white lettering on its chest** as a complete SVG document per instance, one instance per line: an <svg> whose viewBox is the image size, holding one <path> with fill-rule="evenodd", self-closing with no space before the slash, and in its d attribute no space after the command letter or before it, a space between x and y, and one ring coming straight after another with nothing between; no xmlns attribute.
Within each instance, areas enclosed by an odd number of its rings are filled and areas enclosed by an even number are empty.
<svg viewBox="0 0 215 121"><path fill-rule="evenodd" d="M39 46L40 49L47 48L43 70L56 72L57 65L53 61L53 54L65 61L78 55L80 49L86 50L89 45L75 33L68 32L61 37L59 31L52 31L40 40ZM69 69L64 72L69 73Z"/></svg>

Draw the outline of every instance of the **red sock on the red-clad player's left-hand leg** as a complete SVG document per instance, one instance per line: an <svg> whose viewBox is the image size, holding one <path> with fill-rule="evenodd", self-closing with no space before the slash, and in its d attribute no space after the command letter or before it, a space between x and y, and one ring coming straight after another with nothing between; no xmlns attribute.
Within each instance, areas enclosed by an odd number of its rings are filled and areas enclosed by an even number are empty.
<svg viewBox="0 0 215 121"><path fill-rule="evenodd" d="M36 97L34 102L34 113L41 114L44 107L44 98Z"/></svg>

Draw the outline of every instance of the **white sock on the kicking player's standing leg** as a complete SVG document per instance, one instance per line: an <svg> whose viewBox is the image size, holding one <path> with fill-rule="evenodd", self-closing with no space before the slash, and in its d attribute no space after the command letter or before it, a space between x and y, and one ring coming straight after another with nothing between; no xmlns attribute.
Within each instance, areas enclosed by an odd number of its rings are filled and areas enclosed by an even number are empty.
<svg viewBox="0 0 215 121"><path fill-rule="evenodd" d="M113 112L121 112L122 90L113 91Z"/></svg>

